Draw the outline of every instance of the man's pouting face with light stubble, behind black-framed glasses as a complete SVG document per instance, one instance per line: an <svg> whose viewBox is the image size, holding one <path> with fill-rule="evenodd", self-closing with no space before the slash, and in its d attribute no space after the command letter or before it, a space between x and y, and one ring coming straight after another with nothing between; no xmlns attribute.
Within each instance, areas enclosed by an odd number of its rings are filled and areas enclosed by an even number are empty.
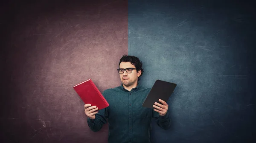
<svg viewBox="0 0 256 143"><path fill-rule="evenodd" d="M131 62L121 62L119 68L126 69L126 68L136 68ZM128 71L128 70L127 70ZM124 71L124 73L119 74L122 84L124 84L126 87L129 87L138 81L138 77L141 74L141 70L137 72L136 69L132 70L131 73L127 73Z"/></svg>

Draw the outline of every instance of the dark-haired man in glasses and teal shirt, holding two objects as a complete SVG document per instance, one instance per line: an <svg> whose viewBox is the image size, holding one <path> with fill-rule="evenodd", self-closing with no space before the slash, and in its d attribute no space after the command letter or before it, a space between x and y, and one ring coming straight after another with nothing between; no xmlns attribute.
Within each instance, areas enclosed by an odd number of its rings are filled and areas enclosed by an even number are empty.
<svg viewBox="0 0 256 143"><path fill-rule="evenodd" d="M138 83L144 71L140 59L124 55L117 70L122 84L102 93L109 107L98 111L96 106L84 105L88 126L97 132L108 121L108 143L151 143L152 118L162 129L170 126L168 104L159 99L163 105L155 103L154 109L142 107L151 88Z"/></svg>

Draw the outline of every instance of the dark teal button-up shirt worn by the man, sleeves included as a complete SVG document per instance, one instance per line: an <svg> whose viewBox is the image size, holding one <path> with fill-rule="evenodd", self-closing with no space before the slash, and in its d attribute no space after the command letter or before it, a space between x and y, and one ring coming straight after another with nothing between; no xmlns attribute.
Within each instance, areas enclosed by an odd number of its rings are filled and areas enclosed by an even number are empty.
<svg viewBox="0 0 256 143"><path fill-rule="evenodd" d="M130 92L122 85L105 90L102 95L109 107L99 110L96 118L87 118L87 123L93 132L108 123L108 143L151 143L151 120L154 118L158 126L168 129L171 123L169 111L160 116L153 109L142 107L151 88L140 85Z"/></svg>

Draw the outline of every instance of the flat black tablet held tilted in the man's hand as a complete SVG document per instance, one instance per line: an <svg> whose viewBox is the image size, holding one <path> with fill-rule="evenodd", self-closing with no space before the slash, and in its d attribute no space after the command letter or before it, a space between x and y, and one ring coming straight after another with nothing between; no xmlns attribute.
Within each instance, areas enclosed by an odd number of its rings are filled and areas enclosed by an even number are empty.
<svg viewBox="0 0 256 143"><path fill-rule="evenodd" d="M163 101L167 102L176 86L177 84L167 81L155 81L142 106L154 109L153 105L155 102L162 104L160 101L158 101L158 99L162 99Z"/></svg>

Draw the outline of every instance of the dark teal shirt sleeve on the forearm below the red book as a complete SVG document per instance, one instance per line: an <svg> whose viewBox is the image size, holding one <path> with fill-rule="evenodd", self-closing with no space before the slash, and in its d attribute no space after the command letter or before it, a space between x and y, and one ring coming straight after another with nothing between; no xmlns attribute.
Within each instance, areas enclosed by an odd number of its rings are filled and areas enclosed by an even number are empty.
<svg viewBox="0 0 256 143"><path fill-rule="evenodd" d="M102 95L105 97L105 92L102 93ZM95 119L87 118L87 123L90 129L93 132L98 132L102 126L107 123L108 119L108 107L99 110L98 113L95 114Z"/></svg>

